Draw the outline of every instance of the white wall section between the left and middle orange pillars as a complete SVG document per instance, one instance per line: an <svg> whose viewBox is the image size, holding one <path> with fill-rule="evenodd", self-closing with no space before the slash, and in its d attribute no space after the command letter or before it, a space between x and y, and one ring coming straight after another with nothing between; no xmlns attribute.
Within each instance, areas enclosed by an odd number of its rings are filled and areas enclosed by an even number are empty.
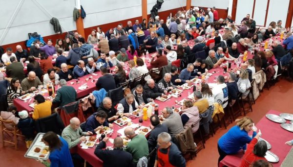
<svg viewBox="0 0 293 167"><path fill-rule="evenodd" d="M81 0L84 28L142 16L141 0Z"/></svg>

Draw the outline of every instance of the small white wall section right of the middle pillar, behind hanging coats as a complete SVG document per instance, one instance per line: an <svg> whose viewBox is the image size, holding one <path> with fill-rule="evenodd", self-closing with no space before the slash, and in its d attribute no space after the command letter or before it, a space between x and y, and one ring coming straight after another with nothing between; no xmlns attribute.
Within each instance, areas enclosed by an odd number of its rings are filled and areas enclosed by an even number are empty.
<svg viewBox="0 0 293 167"><path fill-rule="evenodd" d="M150 10L156 4L157 0L147 0L147 14L150 14ZM158 12L183 7L185 9L186 0L164 0L162 7Z"/></svg>

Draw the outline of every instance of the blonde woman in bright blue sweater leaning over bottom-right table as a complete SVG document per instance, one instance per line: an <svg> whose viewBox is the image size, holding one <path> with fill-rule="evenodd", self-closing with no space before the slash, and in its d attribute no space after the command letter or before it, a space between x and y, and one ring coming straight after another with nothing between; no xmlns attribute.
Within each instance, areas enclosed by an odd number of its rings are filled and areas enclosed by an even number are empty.
<svg viewBox="0 0 293 167"><path fill-rule="evenodd" d="M235 120L236 125L225 133L218 141L218 152L220 157L218 164L226 155L237 154L241 149L246 150L246 144L250 143L255 137L257 128L254 126L253 120L249 117ZM252 138L248 133L253 130Z"/></svg>

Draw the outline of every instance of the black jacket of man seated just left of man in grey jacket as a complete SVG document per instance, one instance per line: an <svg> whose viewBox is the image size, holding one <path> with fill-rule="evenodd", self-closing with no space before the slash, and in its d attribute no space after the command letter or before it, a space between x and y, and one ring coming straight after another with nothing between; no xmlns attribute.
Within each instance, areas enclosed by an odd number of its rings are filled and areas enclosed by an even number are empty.
<svg viewBox="0 0 293 167"><path fill-rule="evenodd" d="M168 133L168 127L165 124L159 124L150 131L147 144L149 152L152 151L157 146L158 135L162 132Z"/></svg>

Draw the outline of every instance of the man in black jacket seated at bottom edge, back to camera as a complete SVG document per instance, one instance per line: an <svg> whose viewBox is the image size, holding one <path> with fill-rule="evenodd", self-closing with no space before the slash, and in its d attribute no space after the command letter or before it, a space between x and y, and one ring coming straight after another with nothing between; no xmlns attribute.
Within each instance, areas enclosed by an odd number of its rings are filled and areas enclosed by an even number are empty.
<svg viewBox="0 0 293 167"><path fill-rule="evenodd" d="M105 137L96 147L95 155L103 161L104 167L133 167L132 155L123 150L123 139L116 137L114 139L114 149L106 148L108 137Z"/></svg>

